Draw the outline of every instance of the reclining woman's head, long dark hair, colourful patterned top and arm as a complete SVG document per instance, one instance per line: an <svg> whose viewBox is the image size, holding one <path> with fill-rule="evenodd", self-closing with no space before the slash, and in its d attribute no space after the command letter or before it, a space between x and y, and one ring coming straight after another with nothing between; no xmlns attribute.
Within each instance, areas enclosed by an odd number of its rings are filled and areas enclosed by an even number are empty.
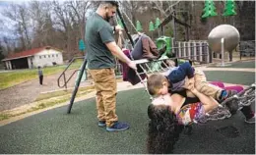
<svg viewBox="0 0 256 155"><path fill-rule="evenodd" d="M200 102L191 103L187 98L175 93L171 96L162 95L149 105L148 153L172 153L184 126L200 122L206 113L218 107L219 103L214 98L197 91L193 85L187 88Z"/></svg>

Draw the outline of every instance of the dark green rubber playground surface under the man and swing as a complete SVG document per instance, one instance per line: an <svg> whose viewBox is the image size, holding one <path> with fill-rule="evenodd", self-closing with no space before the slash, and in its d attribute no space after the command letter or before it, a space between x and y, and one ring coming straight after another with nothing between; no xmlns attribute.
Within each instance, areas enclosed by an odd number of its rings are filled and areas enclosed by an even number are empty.
<svg viewBox="0 0 256 155"><path fill-rule="evenodd" d="M255 73L207 71L209 80L250 85ZM97 127L96 100L76 102L71 114L67 107L45 111L0 127L1 154L143 154L148 129L150 98L144 88L117 94L119 121L130 129L107 132ZM252 106L255 109L255 105ZM255 125L244 123L237 112L230 119L193 125L191 135L180 134L175 154L254 154Z"/></svg>

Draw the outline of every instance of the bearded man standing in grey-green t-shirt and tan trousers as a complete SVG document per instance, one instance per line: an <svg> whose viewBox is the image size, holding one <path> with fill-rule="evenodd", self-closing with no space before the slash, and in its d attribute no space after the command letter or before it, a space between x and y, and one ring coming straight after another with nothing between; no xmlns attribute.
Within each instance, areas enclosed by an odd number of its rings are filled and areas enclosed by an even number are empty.
<svg viewBox="0 0 256 155"><path fill-rule="evenodd" d="M121 27L112 27L108 23L115 16L117 8L118 3L115 1L101 2L86 25L88 69L96 86L98 126L106 127L108 131L129 129L128 124L118 122L115 113L117 91L114 56L137 70L136 65L123 54L114 40L113 32L121 30Z"/></svg>

